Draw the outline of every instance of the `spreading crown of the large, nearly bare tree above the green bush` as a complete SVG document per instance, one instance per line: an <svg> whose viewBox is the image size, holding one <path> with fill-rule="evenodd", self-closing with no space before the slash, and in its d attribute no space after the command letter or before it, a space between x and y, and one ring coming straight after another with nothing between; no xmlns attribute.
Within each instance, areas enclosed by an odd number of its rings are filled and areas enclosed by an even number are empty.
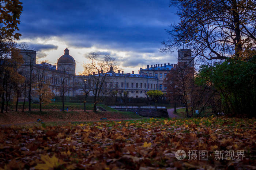
<svg viewBox="0 0 256 170"><path fill-rule="evenodd" d="M255 0L170 0L180 23L167 30L162 52L183 46L207 60L246 56L256 46Z"/></svg>

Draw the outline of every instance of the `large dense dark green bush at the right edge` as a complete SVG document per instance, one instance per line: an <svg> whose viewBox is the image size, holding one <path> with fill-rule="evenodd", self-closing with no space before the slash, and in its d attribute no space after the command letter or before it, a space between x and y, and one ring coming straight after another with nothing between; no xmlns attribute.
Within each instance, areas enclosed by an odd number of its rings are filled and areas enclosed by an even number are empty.
<svg viewBox="0 0 256 170"><path fill-rule="evenodd" d="M214 67L201 66L197 82L219 92L225 115L255 117L255 75L256 56L248 60L228 59Z"/></svg>

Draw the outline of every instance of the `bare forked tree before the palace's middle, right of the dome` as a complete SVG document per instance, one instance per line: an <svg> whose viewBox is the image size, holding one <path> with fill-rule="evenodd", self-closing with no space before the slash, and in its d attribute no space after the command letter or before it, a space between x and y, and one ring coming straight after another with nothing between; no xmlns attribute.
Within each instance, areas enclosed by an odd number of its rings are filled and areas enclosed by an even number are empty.
<svg viewBox="0 0 256 170"><path fill-rule="evenodd" d="M97 103L102 101L102 95L105 93L103 87L106 83L108 71L110 70L110 67L114 65L114 59L109 55L101 58L100 54L95 52L90 53L87 58L90 63L84 65L84 74L90 75L92 85L91 90L94 94L93 111L96 112Z"/></svg>

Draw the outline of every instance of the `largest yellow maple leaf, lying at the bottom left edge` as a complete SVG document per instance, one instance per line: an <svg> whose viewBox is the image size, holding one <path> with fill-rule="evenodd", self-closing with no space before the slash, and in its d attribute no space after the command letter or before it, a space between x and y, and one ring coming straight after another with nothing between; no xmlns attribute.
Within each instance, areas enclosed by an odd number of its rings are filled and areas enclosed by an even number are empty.
<svg viewBox="0 0 256 170"><path fill-rule="evenodd" d="M49 155L41 155L42 161L45 163L38 163L37 166L35 166L35 169L50 169L54 167L59 166L59 159L53 155L52 158L49 157Z"/></svg>

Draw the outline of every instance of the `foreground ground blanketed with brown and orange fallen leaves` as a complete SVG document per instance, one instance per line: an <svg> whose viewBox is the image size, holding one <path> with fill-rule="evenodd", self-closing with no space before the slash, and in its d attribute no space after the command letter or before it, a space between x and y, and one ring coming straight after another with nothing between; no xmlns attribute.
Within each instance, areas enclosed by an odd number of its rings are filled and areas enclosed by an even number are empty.
<svg viewBox="0 0 256 170"><path fill-rule="evenodd" d="M255 141L255 119L224 117L0 127L0 167L255 169Z"/></svg>

